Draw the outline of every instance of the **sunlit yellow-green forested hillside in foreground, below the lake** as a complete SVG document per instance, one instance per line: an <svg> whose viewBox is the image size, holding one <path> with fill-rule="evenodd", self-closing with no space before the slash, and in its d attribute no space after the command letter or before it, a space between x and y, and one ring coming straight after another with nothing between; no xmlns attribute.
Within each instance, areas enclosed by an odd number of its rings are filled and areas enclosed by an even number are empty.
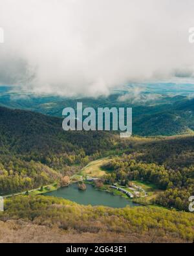
<svg viewBox="0 0 194 256"><path fill-rule="evenodd" d="M5 213L0 213L0 219L11 219L12 229L17 231L24 221L29 222L27 236L30 229L34 230L32 224L54 228L50 230L51 237L47 237L51 241L56 237L59 241L59 237L65 235L65 239L71 235L70 242L76 242L73 234L75 237L79 234L83 240L85 235L90 234L91 242L193 242L194 239L192 213L170 211L161 207L114 209L78 205L50 196L17 196L6 200L5 210ZM56 227L66 233L57 235ZM42 228L48 232L48 229ZM45 240L45 235L38 227L34 234L32 237L39 237L39 242ZM23 237L21 234L20 236ZM2 240L5 239L6 235L5 238L2 237Z"/></svg>

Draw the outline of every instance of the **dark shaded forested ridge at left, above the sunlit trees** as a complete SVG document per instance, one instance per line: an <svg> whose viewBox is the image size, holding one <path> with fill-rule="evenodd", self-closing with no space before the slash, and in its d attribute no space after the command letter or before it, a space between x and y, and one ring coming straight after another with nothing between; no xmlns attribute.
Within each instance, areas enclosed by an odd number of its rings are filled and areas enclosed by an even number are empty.
<svg viewBox="0 0 194 256"><path fill-rule="evenodd" d="M0 107L1 148L16 153L70 152L84 148L92 154L113 137L107 132L65 132L62 119L25 110ZM107 138L107 139L106 139ZM92 143L90 143L92 139ZM103 145L102 143L103 139ZM90 148L90 145L92 147ZM110 146L110 145L109 145ZM107 148L107 145L105 145Z"/></svg>

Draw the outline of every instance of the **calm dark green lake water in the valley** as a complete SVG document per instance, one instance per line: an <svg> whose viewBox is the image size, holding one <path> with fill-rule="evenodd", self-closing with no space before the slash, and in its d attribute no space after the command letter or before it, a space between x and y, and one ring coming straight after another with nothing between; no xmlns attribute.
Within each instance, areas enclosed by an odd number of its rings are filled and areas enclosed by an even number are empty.
<svg viewBox="0 0 194 256"><path fill-rule="evenodd" d="M135 204L122 196L114 196L109 192L98 191L90 184L87 184L86 191L78 190L78 185L73 183L69 187L62 187L58 189L58 191L47 192L45 195L65 198L83 205L104 205L114 208L122 208L126 205L130 205L131 207L138 206L138 204Z"/></svg>

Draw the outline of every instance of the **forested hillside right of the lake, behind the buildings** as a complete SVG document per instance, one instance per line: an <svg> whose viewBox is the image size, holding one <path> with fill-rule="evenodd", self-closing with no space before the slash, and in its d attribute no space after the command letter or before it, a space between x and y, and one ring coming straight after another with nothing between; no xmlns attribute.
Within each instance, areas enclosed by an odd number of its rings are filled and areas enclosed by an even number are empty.
<svg viewBox="0 0 194 256"><path fill-rule="evenodd" d="M162 189L153 203L188 211L194 194L194 136L134 139L132 149L103 166L111 171L105 181L127 186L149 182Z"/></svg>

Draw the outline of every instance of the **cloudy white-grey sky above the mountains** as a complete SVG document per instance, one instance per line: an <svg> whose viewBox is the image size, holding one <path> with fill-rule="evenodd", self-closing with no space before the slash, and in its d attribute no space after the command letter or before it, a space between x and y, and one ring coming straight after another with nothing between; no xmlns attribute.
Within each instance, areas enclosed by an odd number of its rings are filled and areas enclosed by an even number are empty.
<svg viewBox="0 0 194 256"><path fill-rule="evenodd" d="M0 84L109 95L129 83L194 80L193 0L0 0Z"/></svg>

